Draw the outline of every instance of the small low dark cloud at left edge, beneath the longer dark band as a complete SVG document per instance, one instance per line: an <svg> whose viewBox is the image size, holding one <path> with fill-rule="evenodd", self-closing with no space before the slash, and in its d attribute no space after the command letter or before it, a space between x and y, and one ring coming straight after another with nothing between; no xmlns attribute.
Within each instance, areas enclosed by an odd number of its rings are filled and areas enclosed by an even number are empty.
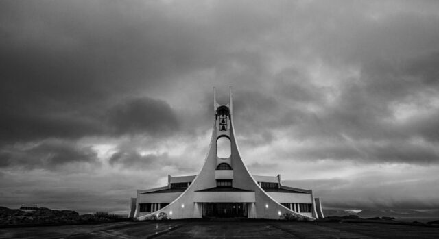
<svg viewBox="0 0 439 239"><path fill-rule="evenodd" d="M44 168L55 170L72 163L97 164L97 153L91 147L80 147L71 142L46 140L36 144L3 147L0 166Z"/></svg>

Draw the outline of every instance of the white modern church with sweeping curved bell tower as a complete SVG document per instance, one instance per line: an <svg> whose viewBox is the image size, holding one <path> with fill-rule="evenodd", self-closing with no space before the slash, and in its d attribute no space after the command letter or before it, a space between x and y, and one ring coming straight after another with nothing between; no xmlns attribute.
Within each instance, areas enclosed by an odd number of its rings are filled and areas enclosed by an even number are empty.
<svg viewBox="0 0 439 239"><path fill-rule="evenodd" d="M233 127L233 97L226 105L213 93L212 138L198 175L171 177L160 188L137 190L130 217L242 217L279 219L289 213L302 220L323 218L313 190L282 185L281 175L252 175L241 159Z"/></svg>

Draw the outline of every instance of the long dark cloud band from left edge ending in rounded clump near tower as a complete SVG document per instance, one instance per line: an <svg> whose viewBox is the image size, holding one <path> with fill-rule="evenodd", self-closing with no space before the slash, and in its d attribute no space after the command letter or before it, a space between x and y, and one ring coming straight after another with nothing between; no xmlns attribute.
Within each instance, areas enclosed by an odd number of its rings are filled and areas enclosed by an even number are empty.
<svg viewBox="0 0 439 239"><path fill-rule="evenodd" d="M81 111L82 109L78 109ZM149 97L123 99L93 112L72 109L58 112L15 114L5 110L0 118L0 140L14 142L48 137L77 139L84 136L169 134L178 129L176 114L165 101Z"/></svg>

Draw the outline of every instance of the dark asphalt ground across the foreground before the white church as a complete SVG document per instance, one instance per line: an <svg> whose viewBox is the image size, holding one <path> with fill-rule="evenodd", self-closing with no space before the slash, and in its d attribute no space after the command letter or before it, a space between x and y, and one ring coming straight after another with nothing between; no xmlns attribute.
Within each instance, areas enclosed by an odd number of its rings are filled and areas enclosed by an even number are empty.
<svg viewBox="0 0 439 239"><path fill-rule="evenodd" d="M439 227L287 221L142 221L1 228L0 238L439 238Z"/></svg>

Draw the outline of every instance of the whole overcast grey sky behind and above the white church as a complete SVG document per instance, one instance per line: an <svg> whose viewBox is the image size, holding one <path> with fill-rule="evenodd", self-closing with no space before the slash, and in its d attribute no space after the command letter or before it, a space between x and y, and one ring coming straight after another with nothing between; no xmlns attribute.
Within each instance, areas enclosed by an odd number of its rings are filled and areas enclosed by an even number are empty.
<svg viewBox="0 0 439 239"><path fill-rule="evenodd" d="M0 205L127 212L244 163L325 208L439 208L438 1L0 1Z"/></svg>

